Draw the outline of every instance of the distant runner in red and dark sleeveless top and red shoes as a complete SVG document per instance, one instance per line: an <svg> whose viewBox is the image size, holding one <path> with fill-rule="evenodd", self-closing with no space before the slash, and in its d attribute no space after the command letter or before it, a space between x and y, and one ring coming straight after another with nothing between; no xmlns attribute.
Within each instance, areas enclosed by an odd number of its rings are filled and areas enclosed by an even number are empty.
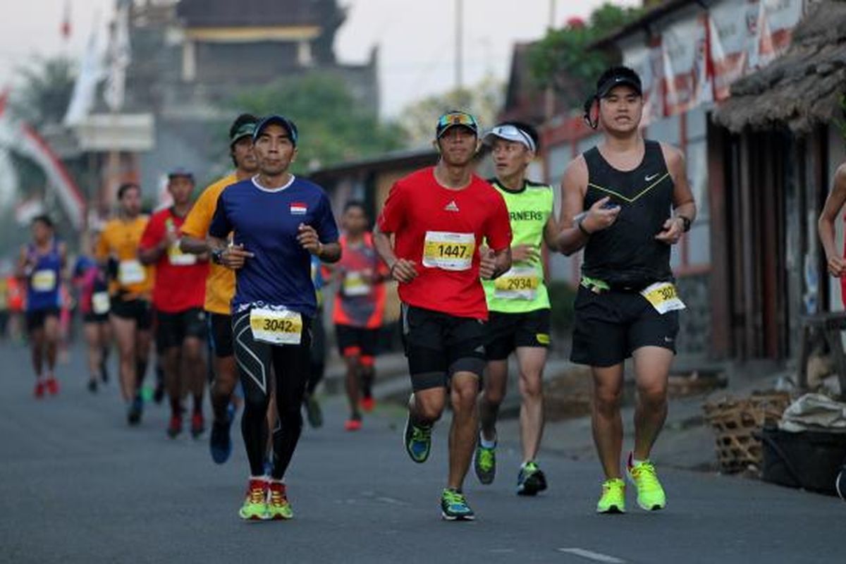
<svg viewBox="0 0 846 564"><path fill-rule="evenodd" d="M338 350L347 364L347 397L349 419L346 430L361 428L361 407L371 411L373 380L376 376L376 342L382 316L385 313L385 280L388 271L373 247L373 234L367 231L365 206L349 201L343 207L343 235L341 260L333 267L333 279L338 281L338 293L332 309L332 323Z"/></svg>

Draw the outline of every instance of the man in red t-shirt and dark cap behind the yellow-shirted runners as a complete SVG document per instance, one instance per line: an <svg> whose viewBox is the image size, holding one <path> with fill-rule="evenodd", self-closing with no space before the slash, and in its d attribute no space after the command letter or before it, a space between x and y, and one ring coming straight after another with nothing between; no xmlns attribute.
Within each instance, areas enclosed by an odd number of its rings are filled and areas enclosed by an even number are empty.
<svg viewBox="0 0 846 564"><path fill-rule="evenodd" d="M171 419L168 435L182 432L182 397L194 396L191 435L197 438L205 429L203 388L206 385L206 276L208 262L202 256L184 254L179 249L179 227L191 209L194 175L184 169L168 174L168 191L173 206L157 211L150 218L139 244L138 258L156 266L153 307L156 309L156 341L170 397Z"/></svg>

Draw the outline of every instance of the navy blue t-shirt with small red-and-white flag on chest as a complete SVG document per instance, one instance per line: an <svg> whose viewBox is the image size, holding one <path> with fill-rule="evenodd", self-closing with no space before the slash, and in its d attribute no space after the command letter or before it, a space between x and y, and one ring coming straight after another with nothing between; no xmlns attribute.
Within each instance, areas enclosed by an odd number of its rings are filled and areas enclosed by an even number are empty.
<svg viewBox="0 0 846 564"><path fill-rule="evenodd" d="M292 176L283 188L266 189L252 178L222 191L209 234L233 232L234 243L255 255L236 271L233 312L261 305L315 315L310 253L297 241L300 223L314 227L323 244L338 241L329 198L308 180Z"/></svg>

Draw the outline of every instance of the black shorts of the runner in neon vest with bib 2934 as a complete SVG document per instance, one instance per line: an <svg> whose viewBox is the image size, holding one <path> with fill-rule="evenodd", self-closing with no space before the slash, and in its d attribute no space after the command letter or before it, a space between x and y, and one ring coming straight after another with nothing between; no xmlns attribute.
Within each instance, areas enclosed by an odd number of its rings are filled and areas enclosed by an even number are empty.
<svg viewBox="0 0 846 564"><path fill-rule="evenodd" d="M486 358L508 359L518 347L549 347L549 318L548 308L520 314L492 311L486 325Z"/></svg>

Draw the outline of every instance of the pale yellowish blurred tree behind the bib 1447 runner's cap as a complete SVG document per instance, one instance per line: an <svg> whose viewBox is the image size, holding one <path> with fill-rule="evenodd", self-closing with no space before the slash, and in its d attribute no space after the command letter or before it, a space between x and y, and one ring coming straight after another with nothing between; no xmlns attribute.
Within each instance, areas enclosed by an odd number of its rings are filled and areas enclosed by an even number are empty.
<svg viewBox="0 0 846 564"><path fill-rule="evenodd" d="M423 146L431 143L435 138L437 118L449 110L470 112L482 127L491 127L503 107L504 90L502 82L488 75L476 85L412 102L402 112L403 128L410 144Z"/></svg>

